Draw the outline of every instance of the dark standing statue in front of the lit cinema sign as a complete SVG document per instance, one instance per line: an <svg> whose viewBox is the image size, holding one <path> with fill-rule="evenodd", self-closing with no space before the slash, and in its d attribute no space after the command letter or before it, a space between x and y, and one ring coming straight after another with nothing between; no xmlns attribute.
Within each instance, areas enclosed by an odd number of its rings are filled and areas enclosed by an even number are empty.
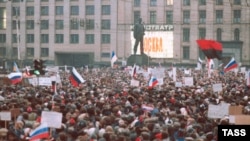
<svg viewBox="0 0 250 141"><path fill-rule="evenodd" d="M143 36L145 32L144 25L142 24L142 19L139 18L138 23L134 26L134 38L135 38L135 44L134 44L134 55L137 52L138 44L140 43L140 51L141 55L144 54L143 52Z"/></svg>

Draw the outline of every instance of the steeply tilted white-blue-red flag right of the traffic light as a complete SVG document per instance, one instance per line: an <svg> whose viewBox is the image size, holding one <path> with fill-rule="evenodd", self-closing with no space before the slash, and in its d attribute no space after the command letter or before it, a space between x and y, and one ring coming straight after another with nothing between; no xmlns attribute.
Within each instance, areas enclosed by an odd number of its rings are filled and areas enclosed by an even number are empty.
<svg viewBox="0 0 250 141"><path fill-rule="evenodd" d="M75 67L72 68L69 80L74 87L78 87L79 84L85 82L82 76L76 71Z"/></svg>

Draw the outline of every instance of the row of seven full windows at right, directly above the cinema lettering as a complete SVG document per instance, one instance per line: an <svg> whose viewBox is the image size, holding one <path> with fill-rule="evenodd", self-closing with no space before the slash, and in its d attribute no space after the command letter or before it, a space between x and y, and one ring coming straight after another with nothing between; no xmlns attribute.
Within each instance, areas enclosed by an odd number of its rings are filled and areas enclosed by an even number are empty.
<svg viewBox="0 0 250 141"><path fill-rule="evenodd" d="M157 16L156 11L149 11L149 22L150 24L156 24L157 23ZM206 23L206 10L199 10L199 21L200 24ZM190 10L184 10L183 13L183 24L190 24L191 19L191 12ZM134 21L138 21L138 19L141 17L140 11L134 11ZM233 10L233 23L240 23L241 22L241 10ZM216 10L215 11L215 23L222 24L223 23L223 10ZM168 10L166 11L166 24L173 24L173 11Z"/></svg>

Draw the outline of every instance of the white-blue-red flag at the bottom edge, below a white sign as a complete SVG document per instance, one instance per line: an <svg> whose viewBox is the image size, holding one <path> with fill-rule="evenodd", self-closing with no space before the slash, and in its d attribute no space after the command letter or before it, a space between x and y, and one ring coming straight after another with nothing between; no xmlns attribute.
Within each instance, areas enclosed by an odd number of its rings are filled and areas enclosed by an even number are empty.
<svg viewBox="0 0 250 141"><path fill-rule="evenodd" d="M33 131L30 132L30 139L29 141L37 141L38 139L48 138L49 128L46 124L42 123Z"/></svg>

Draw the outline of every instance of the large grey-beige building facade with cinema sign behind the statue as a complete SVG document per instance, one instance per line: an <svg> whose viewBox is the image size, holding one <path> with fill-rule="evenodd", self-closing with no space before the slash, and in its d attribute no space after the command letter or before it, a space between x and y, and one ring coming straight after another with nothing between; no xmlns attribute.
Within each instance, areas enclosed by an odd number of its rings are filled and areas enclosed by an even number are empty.
<svg viewBox="0 0 250 141"><path fill-rule="evenodd" d="M196 40L211 39L250 65L250 0L0 0L0 59L83 66L115 51L126 60L138 18L152 62L196 64Z"/></svg>

